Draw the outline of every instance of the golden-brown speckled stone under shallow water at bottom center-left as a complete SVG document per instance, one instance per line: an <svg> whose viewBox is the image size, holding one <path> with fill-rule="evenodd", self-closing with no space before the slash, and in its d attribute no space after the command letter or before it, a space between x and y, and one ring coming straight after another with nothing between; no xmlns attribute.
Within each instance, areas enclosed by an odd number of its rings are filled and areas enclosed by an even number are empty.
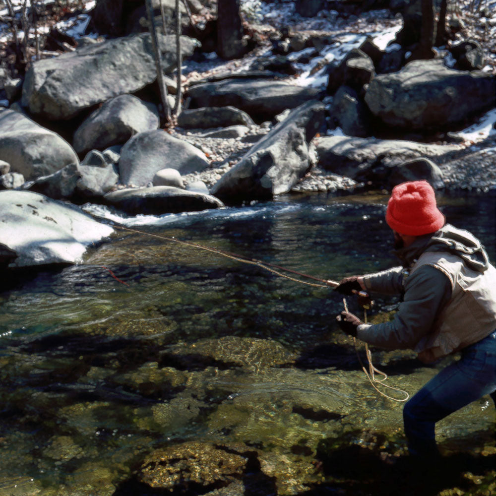
<svg viewBox="0 0 496 496"><path fill-rule="evenodd" d="M182 488L196 483L208 486L215 482L234 482L246 468L248 459L229 446L190 441L148 455L139 478L152 488Z"/></svg>

